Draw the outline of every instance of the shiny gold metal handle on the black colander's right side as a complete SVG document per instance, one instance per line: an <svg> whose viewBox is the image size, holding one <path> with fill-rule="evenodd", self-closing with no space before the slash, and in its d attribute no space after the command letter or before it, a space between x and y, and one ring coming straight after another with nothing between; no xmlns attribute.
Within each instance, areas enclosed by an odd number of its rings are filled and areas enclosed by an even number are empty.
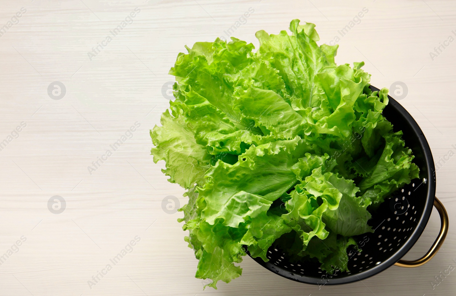
<svg viewBox="0 0 456 296"><path fill-rule="evenodd" d="M432 244L432 247L420 259L412 261L401 259L394 265L400 267L418 267L427 263L437 253L441 244L445 240L446 233L448 233L448 213L446 212L445 207L442 205L442 203L437 199L437 197L435 197L434 199L434 206L437 209L437 211L439 211L440 215L440 233L439 236L435 239L435 242Z"/></svg>

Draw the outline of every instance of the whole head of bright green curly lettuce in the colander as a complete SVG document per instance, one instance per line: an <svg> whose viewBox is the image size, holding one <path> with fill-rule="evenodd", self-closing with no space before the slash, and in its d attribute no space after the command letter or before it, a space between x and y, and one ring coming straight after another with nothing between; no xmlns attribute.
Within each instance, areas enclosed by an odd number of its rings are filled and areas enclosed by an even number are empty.
<svg viewBox="0 0 456 296"><path fill-rule="evenodd" d="M364 63L336 65L314 24L290 31L257 32L256 52L232 37L179 53L176 100L150 131L154 162L187 190L178 221L213 288L241 275L247 250L268 261L273 245L348 271L353 236L373 232L371 212L419 174Z"/></svg>

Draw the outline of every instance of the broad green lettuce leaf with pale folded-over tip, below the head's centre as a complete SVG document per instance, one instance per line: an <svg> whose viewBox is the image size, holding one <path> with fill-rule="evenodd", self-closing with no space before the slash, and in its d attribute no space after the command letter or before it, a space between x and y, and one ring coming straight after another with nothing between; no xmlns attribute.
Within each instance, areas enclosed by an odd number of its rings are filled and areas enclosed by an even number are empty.
<svg viewBox="0 0 456 296"><path fill-rule="evenodd" d="M224 225L237 227L260 210L267 211L272 201L296 183L291 167L295 154L303 149L306 145L295 138L252 145L235 164L218 160L207 171L207 183L197 188L205 201L201 217L211 224L222 218Z"/></svg>

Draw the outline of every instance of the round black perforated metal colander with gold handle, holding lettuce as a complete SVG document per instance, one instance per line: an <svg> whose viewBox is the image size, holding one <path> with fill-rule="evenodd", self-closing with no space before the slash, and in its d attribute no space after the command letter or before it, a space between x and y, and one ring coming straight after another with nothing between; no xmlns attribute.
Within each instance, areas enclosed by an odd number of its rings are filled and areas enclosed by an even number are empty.
<svg viewBox="0 0 456 296"><path fill-rule="evenodd" d="M371 86L371 90L378 90ZM386 270L395 264L416 267L428 262L440 248L448 231L448 215L440 201L435 198L435 167L432 153L423 132L409 112L388 96L389 103L383 115L394 125L394 131L402 130L406 146L415 155L414 162L420 168L420 178L412 180L391 198L385 200L372 213L368 224L375 231L355 237L362 249L348 248L349 272L336 270L331 275L320 269L320 264L290 260L286 252L270 247L268 262L254 258L266 269L287 279L314 285L338 285L363 280ZM432 206L440 214L441 229L427 254L414 261L400 260L420 238L429 220Z"/></svg>

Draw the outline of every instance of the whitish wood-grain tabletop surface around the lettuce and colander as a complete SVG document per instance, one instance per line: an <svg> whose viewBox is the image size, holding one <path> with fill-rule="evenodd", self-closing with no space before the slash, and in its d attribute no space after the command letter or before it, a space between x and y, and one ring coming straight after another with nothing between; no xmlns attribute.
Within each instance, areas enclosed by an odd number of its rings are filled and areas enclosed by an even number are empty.
<svg viewBox="0 0 456 296"><path fill-rule="evenodd" d="M198 2L197 2L198 1ZM456 30L456 4L436 0L376 1L0 1L0 26L26 8L19 23L0 37L0 141L26 122L19 137L0 151L0 253L21 236L26 242L0 266L0 295L453 295L456 270L454 180L456 158L437 172L437 196L450 214L444 249L415 269L391 267L363 282L312 286L275 275L245 258L242 277L202 291L197 260L161 202L183 190L166 181L150 154L149 129L168 106L161 89L184 45L213 41L249 7L254 13L233 34L258 45L260 29L278 33L290 20L313 22L330 42L363 7L362 22L342 37L337 63L365 61L372 84L403 81L400 103L419 123L435 160L456 152L454 80L456 42L432 60L430 52ZM88 52L140 8L92 59ZM455 37L455 36L453 36ZM67 89L52 100L53 81ZM135 122L140 128L91 175L88 166ZM51 196L66 209L52 214ZM154 223L153 223L154 222ZM151 225L151 223L153 223ZM424 254L438 233L434 210L426 231L406 255ZM135 236L140 242L92 289L97 271ZM435 281L435 279L434 279Z"/></svg>

